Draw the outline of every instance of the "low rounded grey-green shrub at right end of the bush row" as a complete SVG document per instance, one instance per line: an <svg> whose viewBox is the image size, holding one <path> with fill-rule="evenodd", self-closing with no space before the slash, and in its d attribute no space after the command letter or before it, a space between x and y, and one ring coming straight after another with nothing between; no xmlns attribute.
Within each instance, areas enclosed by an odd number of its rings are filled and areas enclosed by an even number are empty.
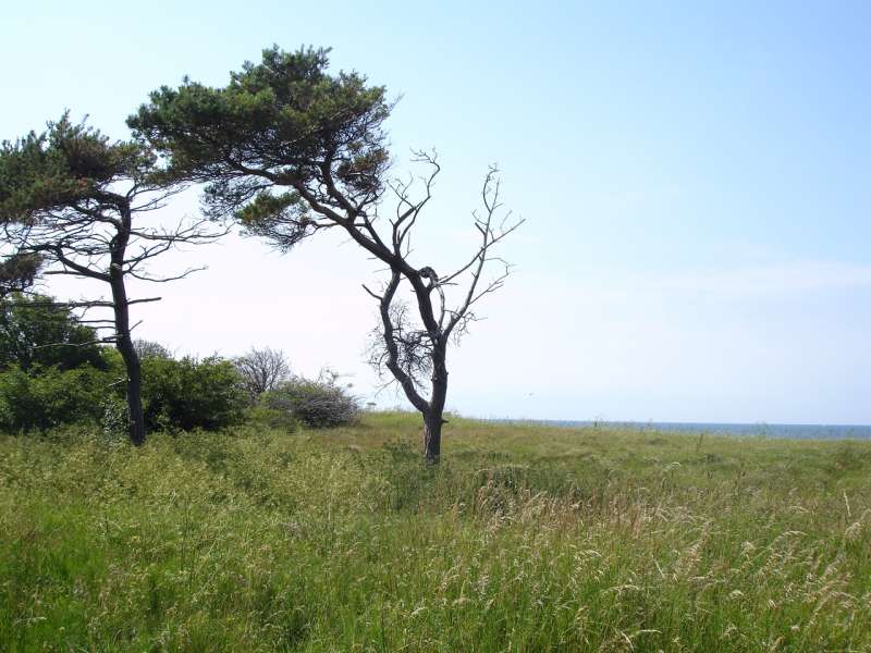
<svg viewBox="0 0 871 653"><path fill-rule="evenodd" d="M338 385L335 377L327 381L294 379L262 394L260 404L316 429L349 424L360 410L356 397Z"/></svg>

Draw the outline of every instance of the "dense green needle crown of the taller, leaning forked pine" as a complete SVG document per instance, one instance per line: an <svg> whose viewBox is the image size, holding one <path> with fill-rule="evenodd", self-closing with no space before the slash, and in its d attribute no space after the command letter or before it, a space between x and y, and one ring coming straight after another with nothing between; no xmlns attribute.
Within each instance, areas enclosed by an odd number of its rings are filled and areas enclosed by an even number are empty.
<svg viewBox="0 0 871 653"><path fill-rule="evenodd" d="M185 77L152 93L127 124L170 155L170 178L207 183L210 217L234 215L290 247L318 226L312 200L375 201L389 165L384 88L329 74L328 53L272 47L223 88Z"/></svg>

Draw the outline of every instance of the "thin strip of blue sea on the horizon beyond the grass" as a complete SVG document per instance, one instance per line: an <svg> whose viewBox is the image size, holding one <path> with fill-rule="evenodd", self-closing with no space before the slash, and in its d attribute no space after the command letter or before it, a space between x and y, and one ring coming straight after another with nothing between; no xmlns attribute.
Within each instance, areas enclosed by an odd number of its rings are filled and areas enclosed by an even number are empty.
<svg viewBox="0 0 871 653"><path fill-rule="evenodd" d="M502 421L502 420L500 420ZM796 440L871 440L871 426L849 424L720 424L704 422L623 422L573 420L504 420L554 427L615 427L664 433L708 433L746 438L788 438Z"/></svg>

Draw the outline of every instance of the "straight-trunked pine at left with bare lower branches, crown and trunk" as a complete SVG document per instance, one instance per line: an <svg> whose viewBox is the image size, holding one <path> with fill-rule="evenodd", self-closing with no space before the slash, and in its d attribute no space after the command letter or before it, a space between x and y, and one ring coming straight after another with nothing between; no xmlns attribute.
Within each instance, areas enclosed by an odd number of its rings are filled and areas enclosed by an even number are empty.
<svg viewBox="0 0 871 653"><path fill-rule="evenodd" d="M225 233L206 221L174 227L144 219L163 208L183 186L155 181L156 158L137 143L110 143L98 131L73 125L69 115L45 134L30 133L0 151L0 222L15 257L38 257L45 275L107 284L109 299L63 303L70 308L111 309L111 317L83 320L105 330L126 370L128 433L145 441L139 357L133 344L130 307L160 297L131 299L126 281L165 283L196 268L156 276L147 263L182 244L211 243Z"/></svg>

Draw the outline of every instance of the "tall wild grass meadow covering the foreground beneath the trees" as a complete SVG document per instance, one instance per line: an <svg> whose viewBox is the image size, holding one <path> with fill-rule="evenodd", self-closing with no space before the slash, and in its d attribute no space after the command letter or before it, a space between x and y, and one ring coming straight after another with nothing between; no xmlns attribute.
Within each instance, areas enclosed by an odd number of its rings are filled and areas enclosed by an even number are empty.
<svg viewBox="0 0 871 653"><path fill-rule="evenodd" d="M871 651L871 443L0 436L4 651Z"/></svg>

